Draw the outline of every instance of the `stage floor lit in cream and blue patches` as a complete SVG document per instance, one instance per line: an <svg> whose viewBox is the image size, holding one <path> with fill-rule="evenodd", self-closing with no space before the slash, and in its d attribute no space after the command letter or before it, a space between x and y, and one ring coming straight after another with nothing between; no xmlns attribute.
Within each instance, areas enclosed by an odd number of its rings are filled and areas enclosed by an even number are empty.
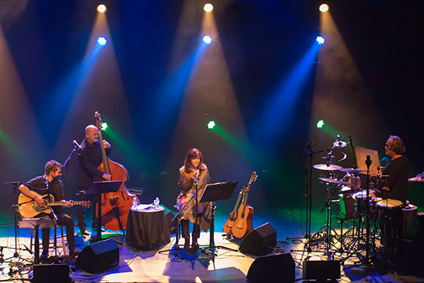
<svg viewBox="0 0 424 283"><path fill-rule="evenodd" d="M320 212L320 208L313 209L312 213L312 232L326 223L325 212ZM276 208L273 210L256 210L254 215L254 227L259 227L264 223L271 223L272 227L277 231L277 247L274 254L290 253L291 250L301 250L301 252L291 252L291 256L295 260L295 278L297 282L302 282L302 261L307 257L314 256L312 259L325 260L328 258L324 253L310 253L304 251L304 240L293 239L287 240L287 237L296 237L304 234L305 211L296 208ZM3 247L14 247L14 227L13 219L9 215L2 214L0 245ZM215 230L221 230L225 221L226 214L218 214ZM10 225L6 225L10 223ZM335 225L336 231L339 231ZM76 232L78 232L76 226ZM53 230L52 230L53 231ZM106 237L111 237L117 241L124 242L123 236L116 232L103 233ZM239 243L228 241L221 232L215 232L215 245L222 245L232 249L238 249ZM94 234L92 235L94 236ZM89 242L83 241L81 237L77 237L77 249L82 250L89 245ZM180 244L183 244L181 240ZM209 233L201 233L199 239L200 246L209 245ZM24 248L29 247L29 229L21 228L18 230L18 245ZM198 254L187 254L180 258L168 252L159 253L165 249L170 249L175 245L175 237L172 236L171 243L151 251L140 251L129 247L126 244L118 244L120 247L120 264L96 275L91 275L83 271L72 271L70 274L75 282L246 282L246 275L257 256L242 254L239 251L228 251L226 249L217 249L217 256L198 252ZM325 244L321 244L320 251L325 250ZM313 250L318 250L313 247ZM14 250L4 248L3 258L7 259L13 255ZM51 251L51 255L54 251ZM20 251L21 258L12 258L13 262L13 278L16 282L22 282L22 278L31 278L31 266L29 262L34 258L28 251ZM268 256L272 256L269 254ZM347 255L339 252L333 254L335 259L343 259ZM66 258L64 258L66 260ZM351 266L358 257L350 257L345 262L344 267ZM10 263L3 262L1 264L0 280L10 279ZM72 261L71 261L72 263ZM71 264L72 265L72 264ZM284 268L284 267L282 267ZM352 267L344 270L341 269L341 279L337 282L423 282L424 279L416 278L412 275L396 275L393 272L379 271L374 268L366 268L364 266Z"/></svg>

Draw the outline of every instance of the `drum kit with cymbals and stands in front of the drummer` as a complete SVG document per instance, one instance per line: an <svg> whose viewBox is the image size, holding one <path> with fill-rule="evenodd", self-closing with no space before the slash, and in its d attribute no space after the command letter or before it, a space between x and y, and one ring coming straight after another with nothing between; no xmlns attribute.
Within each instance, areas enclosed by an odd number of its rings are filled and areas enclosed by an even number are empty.
<svg viewBox="0 0 424 283"><path fill-rule="evenodd" d="M336 140L337 143L337 140ZM344 144L334 143L332 149L344 147ZM342 143L342 142L338 142ZM379 182L388 177L380 174L370 180L369 167L372 163L367 157L367 170L356 168L343 168L334 164L334 156L329 151L326 163L313 165L320 171L319 180L327 186L327 200L323 206L327 208L326 224L315 234L308 238L308 246L326 243L327 254L345 254L342 263L358 256L362 263L371 264L371 256L376 254L387 257L387 261L393 260L393 248L398 237L399 221L403 202L397 199L382 199ZM345 173L342 178L337 178L337 171ZM365 184L365 186L361 186ZM365 189L367 188L367 189ZM367 194L367 191L369 192ZM340 234L332 227L332 204L340 204L341 223ZM323 210L322 209L322 210ZM412 208L411 208L412 209ZM321 211L322 211L321 210ZM343 233L343 223L352 223L347 232ZM400 219L402 221L402 219ZM376 240L380 238L381 247L376 247ZM364 256L364 251L366 256ZM378 256L377 256L378 257Z"/></svg>

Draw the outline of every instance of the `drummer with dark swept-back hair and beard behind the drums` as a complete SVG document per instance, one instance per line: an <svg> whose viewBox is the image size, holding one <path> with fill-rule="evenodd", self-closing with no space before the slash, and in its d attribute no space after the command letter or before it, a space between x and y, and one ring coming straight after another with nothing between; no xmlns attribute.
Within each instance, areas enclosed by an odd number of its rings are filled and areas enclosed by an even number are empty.
<svg viewBox="0 0 424 283"><path fill-rule="evenodd" d="M383 175L388 175L386 180L380 182L382 197L384 199L398 199L406 202L408 194L409 162L403 156L406 149L399 136L389 136L386 141L386 155L390 161L383 168Z"/></svg>

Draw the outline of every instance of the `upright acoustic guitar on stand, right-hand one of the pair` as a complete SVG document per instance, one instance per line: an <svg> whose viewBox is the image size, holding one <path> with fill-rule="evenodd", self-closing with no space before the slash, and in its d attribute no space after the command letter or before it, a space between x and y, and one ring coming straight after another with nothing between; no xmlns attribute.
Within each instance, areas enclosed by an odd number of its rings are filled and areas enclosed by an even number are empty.
<svg viewBox="0 0 424 283"><path fill-rule="evenodd" d="M248 188L246 189L246 195L243 198L243 205L241 205L239 210L237 210L237 219L231 229L231 232L233 232L233 235L237 238L243 238L253 229L252 219L254 208L248 205L248 197L250 193L250 185L256 181L256 178L256 172L253 171L252 176L250 176Z"/></svg>

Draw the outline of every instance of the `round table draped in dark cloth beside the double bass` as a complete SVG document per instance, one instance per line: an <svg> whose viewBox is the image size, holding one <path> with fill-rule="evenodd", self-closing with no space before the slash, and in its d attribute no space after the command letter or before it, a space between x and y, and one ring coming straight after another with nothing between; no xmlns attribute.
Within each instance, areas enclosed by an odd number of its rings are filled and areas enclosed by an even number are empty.
<svg viewBox="0 0 424 283"><path fill-rule="evenodd" d="M163 207L159 207L159 210L155 210L154 207L131 208L125 241L128 245L143 249L170 243L170 227Z"/></svg>

